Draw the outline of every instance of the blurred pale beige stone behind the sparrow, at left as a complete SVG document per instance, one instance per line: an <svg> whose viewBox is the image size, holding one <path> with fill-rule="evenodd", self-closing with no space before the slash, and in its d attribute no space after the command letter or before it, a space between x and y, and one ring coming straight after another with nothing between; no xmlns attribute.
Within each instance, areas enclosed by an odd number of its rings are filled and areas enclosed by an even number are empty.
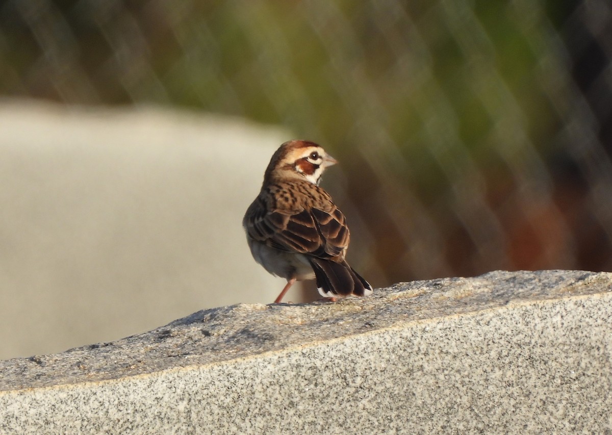
<svg viewBox="0 0 612 435"><path fill-rule="evenodd" d="M279 128L159 108L0 102L0 359L272 302L242 215Z"/></svg>

